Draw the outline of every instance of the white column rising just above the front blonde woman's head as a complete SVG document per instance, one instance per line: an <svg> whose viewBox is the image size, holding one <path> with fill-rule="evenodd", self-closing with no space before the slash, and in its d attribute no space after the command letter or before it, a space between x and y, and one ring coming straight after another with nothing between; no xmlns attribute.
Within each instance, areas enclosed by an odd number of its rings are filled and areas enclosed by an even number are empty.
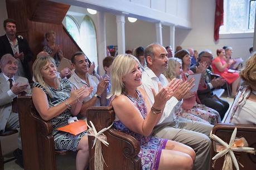
<svg viewBox="0 0 256 170"><path fill-rule="evenodd" d="M125 32L124 32L124 15L117 15L117 46L118 54L125 53Z"/></svg>

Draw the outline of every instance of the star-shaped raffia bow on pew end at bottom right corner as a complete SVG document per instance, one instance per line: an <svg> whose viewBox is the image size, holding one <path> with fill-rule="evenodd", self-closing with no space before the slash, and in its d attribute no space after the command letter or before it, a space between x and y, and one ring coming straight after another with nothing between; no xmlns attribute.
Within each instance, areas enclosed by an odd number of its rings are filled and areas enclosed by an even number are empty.
<svg viewBox="0 0 256 170"><path fill-rule="evenodd" d="M219 142L222 145L222 146L218 146L218 145L216 146L217 152L219 152L219 153L216 154L212 158L212 160L214 160L214 162L212 163L212 167L214 167L215 161L217 159L219 159L220 157L223 157L225 155L222 169L223 170L232 170L233 169L233 163L234 163L235 168L237 170L239 170L238 161L236 161L235 154L234 154L233 151L235 151L235 152L247 152L247 153L250 153L250 154L255 154L255 149L254 148L247 147L248 143L245 140L245 138L235 139L236 132L237 132L237 128L235 127L235 129L234 129L234 131L231 135L229 144L224 142L222 139L220 139L215 134L212 134L212 132L210 133L210 137L214 141ZM241 163L240 163L240 166L244 167Z"/></svg>

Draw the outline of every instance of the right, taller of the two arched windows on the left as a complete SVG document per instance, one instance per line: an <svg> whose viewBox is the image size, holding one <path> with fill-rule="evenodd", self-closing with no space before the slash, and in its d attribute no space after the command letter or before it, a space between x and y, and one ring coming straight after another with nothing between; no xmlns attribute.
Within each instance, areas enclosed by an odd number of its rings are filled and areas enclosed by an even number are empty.
<svg viewBox="0 0 256 170"><path fill-rule="evenodd" d="M96 29L93 20L85 16L80 27L80 47L91 62L98 67Z"/></svg>

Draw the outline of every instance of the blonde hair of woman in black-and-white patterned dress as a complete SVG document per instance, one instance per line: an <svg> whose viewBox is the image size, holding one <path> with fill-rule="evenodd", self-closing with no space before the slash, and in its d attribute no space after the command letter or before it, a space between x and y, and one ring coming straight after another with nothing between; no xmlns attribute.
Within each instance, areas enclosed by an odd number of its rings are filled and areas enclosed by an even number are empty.
<svg viewBox="0 0 256 170"><path fill-rule="evenodd" d="M40 83L42 87L46 89L46 92L52 97L52 93L50 91L49 85L44 82L44 78L42 77L42 68L47 64L52 63L56 67L54 58L50 56L45 57L38 57L35 62L33 63L33 77L35 78L35 81ZM59 79L55 79L55 83L59 86Z"/></svg>

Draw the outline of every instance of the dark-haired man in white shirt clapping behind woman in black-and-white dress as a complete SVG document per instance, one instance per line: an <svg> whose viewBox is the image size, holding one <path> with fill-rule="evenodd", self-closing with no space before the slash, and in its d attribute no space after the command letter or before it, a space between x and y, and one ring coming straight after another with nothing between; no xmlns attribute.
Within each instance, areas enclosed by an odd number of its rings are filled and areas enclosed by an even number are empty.
<svg viewBox="0 0 256 170"><path fill-rule="evenodd" d="M78 89L83 86L93 87L93 92L84 98L83 106L80 114L85 116L87 108L90 106L105 106L107 102L107 87L109 83L109 77L105 77L100 82L99 80L90 74L88 58L83 52L76 52L71 57L72 66L75 71L71 74L69 81Z"/></svg>

